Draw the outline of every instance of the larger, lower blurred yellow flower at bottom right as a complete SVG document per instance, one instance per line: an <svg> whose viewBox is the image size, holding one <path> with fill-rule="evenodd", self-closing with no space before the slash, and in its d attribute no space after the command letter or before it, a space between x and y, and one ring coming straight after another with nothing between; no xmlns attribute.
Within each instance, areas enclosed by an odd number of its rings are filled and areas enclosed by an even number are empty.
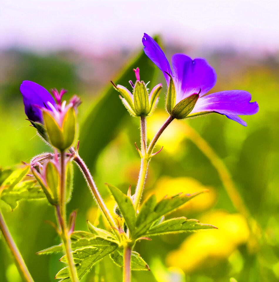
<svg viewBox="0 0 279 282"><path fill-rule="evenodd" d="M239 245L248 241L248 225L241 214L214 211L201 218L201 222L209 222L218 230L191 234L179 249L169 253L169 266L191 272L209 260L228 258Z"/></svg>

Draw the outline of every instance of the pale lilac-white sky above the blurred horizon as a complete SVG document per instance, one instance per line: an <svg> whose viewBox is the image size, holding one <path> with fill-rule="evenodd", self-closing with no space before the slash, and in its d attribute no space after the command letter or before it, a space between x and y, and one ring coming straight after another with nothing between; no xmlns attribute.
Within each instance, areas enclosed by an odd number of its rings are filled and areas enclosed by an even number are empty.
<svg viewBox="0 0 279 282"><path fill-rule="evenodd" d="M0 0L0 50L139 48L165 42L249 52L279 50L279 0Z"/></svg>

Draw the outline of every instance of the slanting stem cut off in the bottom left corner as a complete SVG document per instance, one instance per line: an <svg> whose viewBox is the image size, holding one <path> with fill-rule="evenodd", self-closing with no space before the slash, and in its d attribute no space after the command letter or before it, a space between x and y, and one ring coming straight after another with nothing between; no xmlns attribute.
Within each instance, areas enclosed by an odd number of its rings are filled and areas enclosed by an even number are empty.
<svg viewBox="0 0 279 282"><path fill-rule="evenodd" d="M9 249L11 250L11 253L14 257L16 267L19 271L19 274L20 274L22 280L27 281L27 282L34 282L34 280L32 279L32 277L31 277L31 275L28 271L28 268L27 268L25 262L23 261L23 258L22 258L21 254L19 252L19 249L17 248L17 246L14 242L14 239L11 236L11 233L10 233L8 226L7 226L7 224L4 220L1 209L0 209L0 230L3 234L4 239L6 240L8 246L9 246Z"/></svg>

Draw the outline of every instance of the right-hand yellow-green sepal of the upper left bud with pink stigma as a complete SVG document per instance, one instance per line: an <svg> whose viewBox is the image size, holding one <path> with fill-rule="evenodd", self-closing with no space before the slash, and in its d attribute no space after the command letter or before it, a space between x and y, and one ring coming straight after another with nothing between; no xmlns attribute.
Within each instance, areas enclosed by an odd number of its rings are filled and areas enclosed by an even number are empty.
<svg viewBox="0 0 279 282"><path fill-rule="evenodd" d="M69 148L73 144L75 140L75 131L76 131L75 129L76 129L75 110L73 108L69 108L69 110L65 114L63 125L62 125L65 149Z"/></svg>

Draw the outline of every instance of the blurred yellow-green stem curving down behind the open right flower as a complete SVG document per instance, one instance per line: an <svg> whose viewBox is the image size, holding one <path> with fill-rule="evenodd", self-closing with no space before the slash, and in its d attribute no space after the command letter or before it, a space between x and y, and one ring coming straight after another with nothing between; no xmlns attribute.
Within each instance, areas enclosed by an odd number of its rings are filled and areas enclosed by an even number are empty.
<svg viewBox="0 0 279 282"><path fill-rule="evenodd" d="M187 125L187 128L189 130L189 135L187 137L204 153L204 155L209 159L211 164L215 167L235 209L239 213L243 214L246 219L250 220L250 212L246 208L246 205L244 204L241 195L238 193L231 179L231 175L223 161L214 152L210 145L201 137L201 135L196 132L196 130L194 130L189 125Z"/></svg>

